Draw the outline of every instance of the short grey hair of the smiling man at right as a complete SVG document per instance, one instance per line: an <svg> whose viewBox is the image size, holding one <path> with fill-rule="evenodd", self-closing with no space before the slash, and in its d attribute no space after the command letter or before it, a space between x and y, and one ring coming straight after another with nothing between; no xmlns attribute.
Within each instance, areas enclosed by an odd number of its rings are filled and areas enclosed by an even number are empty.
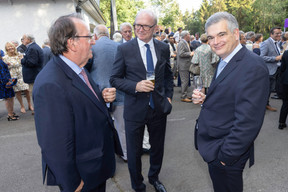
<svg viewBox="0 0 288 192"><path fill-rule="evenodd" d="M208 27L213 24L219 23L222 20L227 21L228 29L231 31L231 33L233 33L235 29L239 29L238 22L232 14L228 12L217 12L207 19L205 23L205 31L207 32Z"/></svg>

